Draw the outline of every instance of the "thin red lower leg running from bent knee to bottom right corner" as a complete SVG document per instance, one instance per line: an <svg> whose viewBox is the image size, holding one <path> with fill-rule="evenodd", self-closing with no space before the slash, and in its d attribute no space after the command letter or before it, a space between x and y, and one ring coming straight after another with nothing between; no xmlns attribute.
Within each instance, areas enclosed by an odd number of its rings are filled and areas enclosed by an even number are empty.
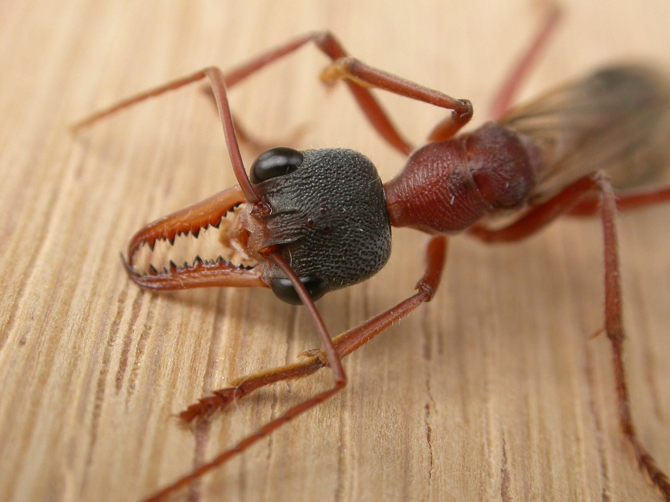
<svg viewBox="0 0 670 502"><path fill-rule="evenodd" d="M606 175L594 177L601 193L602 233L605 258L605 331L612 343L612 363L616 382L619 422L624 436L632 446L640 469L645 471L651 482L670 501L670 483L663 471L656 467L654 459L637 437L630 415L628 384L623 360L624 328L622 321L622 299L619 272L619 257L616 240L616 199L612 183Z"/></svg>

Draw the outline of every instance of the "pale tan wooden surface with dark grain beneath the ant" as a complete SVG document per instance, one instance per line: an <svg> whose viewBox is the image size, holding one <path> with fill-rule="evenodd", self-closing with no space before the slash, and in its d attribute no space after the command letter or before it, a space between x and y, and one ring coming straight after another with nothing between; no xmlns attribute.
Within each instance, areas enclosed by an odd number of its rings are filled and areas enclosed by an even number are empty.
<svg viewBox="0 0 670 502"><path fill-rule="evenodd" d="M592 5L588 5L592 4ZM565 2L523 96L597 64L670 66L670 4ZM297 400L326 371L260 392L194 438L171 414L227 380L317 347L267 290L157 295L119 262L141 225L233 183L197 88L78 138L66 124L202 66L232 66L312 29L366 62L470 98L476 123L538 22L525 1L0 3L0 497L133 501ZM306 48L232 92L270 142L344 146L383 179L403 164ZM383 96L415 141L440 110ZM244 151L246 161L253 152ZM670 470L670 207L620 218L626 362L643 442ZM618 431L602 325L598 223L514 246L452 241L435 300L345 361L350 385L209 475L190 501L658 501ZM409 295L423 242L319 303L333 333Z"/></svg>

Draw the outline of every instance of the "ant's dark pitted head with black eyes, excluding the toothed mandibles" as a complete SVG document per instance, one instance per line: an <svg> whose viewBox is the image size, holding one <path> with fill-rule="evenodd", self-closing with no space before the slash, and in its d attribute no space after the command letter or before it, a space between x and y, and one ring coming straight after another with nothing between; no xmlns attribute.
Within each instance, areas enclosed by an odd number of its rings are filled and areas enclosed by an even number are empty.
<svg viewBox="0 0 670 502"><path fill-rule="evenodd" d="M261 154L250 179L269 214L241 224L254 254L277 250L305 284L313 300L328 291L373 276L391 254L391 224L375 165L354 150L297 151L277 147ZM261 276L275 295L301 303L276 264L262 262Z"/></svg>

